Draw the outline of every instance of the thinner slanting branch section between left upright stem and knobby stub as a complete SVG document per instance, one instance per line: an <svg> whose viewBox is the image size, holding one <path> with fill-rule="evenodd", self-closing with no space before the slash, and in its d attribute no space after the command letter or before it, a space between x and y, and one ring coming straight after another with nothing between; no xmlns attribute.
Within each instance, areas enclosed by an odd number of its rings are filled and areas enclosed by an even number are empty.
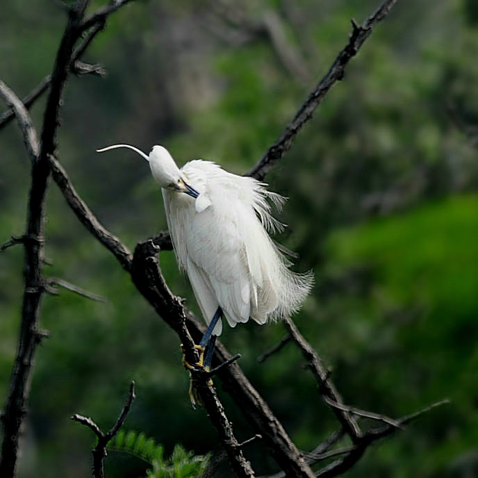
<svg viewBox="0 0 478 478"><path fill-rule="evenodd" d="M85 201L81 199L76 192L72 181L69 180L62 165L56 160L54 156L49 156L49 164L51 167L51 175L54 181L60 188L63 196L67 200L69 207L72 208L76 217L79 218L81 223L92 233L92 235L103 244L106 249L112 252L122 267L129 271L131 268L131 259L133 256L129 252L128 248L110 231L102 226L94 214L90 211L90 208L85 204Z"/></svg>

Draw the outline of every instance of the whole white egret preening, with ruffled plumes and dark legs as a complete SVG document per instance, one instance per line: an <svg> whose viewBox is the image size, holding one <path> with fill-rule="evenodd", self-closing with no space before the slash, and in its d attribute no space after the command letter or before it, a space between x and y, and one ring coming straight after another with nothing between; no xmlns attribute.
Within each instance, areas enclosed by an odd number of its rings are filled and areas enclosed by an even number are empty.
<svg viewBox="0 0 478 478"><path fill-rule="evenodd" d="M188 274L208 329L199 344L203 365L211 365L222 316L231 327L249 319L258 324L284 318L302 305L313 277L297 274L282 248L269 236L283 224L271 215L285 198L251 177L237 176L205 160L181 169L162 146L147 156L130 145L113 145L98 152L129 148L149 161L163 199L176 259ZM212 337L211 337L212 336Z"/></svg>

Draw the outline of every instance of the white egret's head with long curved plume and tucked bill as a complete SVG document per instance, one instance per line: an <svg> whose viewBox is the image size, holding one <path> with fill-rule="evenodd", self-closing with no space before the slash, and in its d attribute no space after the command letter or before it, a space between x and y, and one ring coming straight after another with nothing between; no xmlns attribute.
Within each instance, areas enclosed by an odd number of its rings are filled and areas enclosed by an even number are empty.
<svg viewBox="0 0 478 478"><path fill-rule="evenodd" d="M147 156L140 149L131 145L113 145L103 149L97 149L98 153L108 151L109 149L116 148L129 148L133 149L136 153L140 154L145 160L149 161L149 167L151 167L151 173L153 174L156 182L161 188L172 189L178 192L185 192L192 197L198 197L199 192L192 188L184 180L184 176L181 173L179 167L174 163L174 159L170 155L170 152L163 146L154 146Z"/></svg>

